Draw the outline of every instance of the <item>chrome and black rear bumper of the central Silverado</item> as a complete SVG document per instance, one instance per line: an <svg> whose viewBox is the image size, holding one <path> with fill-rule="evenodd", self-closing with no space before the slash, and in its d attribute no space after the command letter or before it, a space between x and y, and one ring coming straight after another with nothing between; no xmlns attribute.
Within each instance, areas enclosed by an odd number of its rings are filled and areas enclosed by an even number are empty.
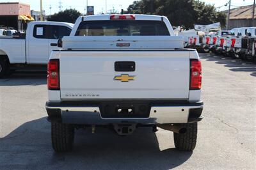
<svg viewBox="0 0 256 170"><path fill-rule="evenodd" d="M46 103L48 120L83 125L108 125L111 123L140 123L144 125L165 123L192 123L202 120L204 103L172 103L149 105L145 118L106 118L102 105Z"/></svg>

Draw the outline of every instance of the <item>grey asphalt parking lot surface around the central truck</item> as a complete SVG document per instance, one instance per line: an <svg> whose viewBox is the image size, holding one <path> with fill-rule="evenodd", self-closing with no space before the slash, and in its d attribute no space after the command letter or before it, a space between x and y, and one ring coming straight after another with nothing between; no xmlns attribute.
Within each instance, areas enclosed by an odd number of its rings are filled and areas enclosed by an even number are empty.
<svg viewBox="0 0 256 170"><path fill-rule="evenodd" d="M54 153L46 120L46 74L0 79L0 169L255 169L256 65L200 54L204 120L193 152L177 151L172 132L140 128L76 132L71 153Z"/></svg>

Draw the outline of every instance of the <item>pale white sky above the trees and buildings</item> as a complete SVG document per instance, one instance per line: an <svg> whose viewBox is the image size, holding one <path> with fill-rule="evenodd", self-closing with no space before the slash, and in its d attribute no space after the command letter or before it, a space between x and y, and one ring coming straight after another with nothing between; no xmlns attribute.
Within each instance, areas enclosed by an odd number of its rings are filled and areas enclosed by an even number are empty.
<svg viewBox="0 0 256 170"><path fill-rule="evenodd" d="M115 8L116 11L120 12L123 8L127 9L129 4L132 4L134 0L87 0L88 6L94 6L95 14L99 14L106 11L106 1L107 1L107 11L113 10ZM227 10L228 6L224 6L228 3L228 0L202 0L207 4L214 4L218 10ZM31 10L40 11L40 0L0 0L0 3L6 2L19 2L30 4ZM86 6L86 0L43 0L43 8L45 10L46 15L50 15L51 13L58 13L60 11L60 2L62 6L62 10L67 8L75 8L81 13L85 13L84 8ZM253 4L253 0L231 0L231 7L236 8L237 6L245 6ZM51 8L51 10L50 10Z"/></svg>

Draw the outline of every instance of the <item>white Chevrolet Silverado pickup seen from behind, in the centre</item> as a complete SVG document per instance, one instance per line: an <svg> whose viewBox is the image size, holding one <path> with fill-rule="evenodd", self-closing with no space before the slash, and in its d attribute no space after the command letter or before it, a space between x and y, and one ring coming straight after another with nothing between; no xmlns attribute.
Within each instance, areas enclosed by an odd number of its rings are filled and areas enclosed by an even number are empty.
<svg viewBox="0 0 256 170"><path fill-rule="evenodd" d="M79 17L48 64L48 120L55 151L72 150L74 129L106 126L174 132L175 147L196 146L202 68L169 20L156 15Z"/></svg>

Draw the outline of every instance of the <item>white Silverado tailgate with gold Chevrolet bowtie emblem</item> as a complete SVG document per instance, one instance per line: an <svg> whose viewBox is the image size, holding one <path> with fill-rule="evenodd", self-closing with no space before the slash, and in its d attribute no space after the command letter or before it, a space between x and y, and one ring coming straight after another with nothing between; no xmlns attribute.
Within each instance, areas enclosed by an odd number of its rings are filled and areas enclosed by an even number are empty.
<svg viewBox="0 0 256 170"><path fill-rule="evenodd" d="M60 54L61 100L189 98L188 50L66 50ZM117 61L132 61L135 70L118 71Z"/></svg>

